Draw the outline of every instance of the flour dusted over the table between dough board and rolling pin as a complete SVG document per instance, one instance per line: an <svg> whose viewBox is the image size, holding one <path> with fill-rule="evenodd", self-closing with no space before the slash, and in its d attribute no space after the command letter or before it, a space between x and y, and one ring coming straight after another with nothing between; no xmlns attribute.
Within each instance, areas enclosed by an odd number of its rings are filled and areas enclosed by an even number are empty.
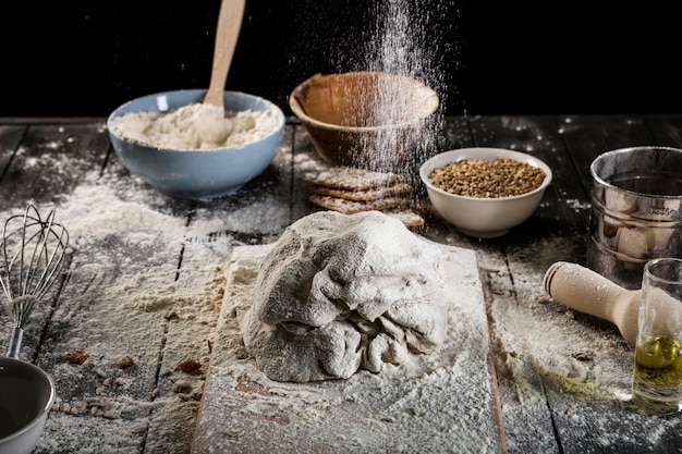
<svg viewBox="0 0 682 454"><path fill-rule="evenodd" d="M679 437L682 419L661 431L659 418L632 404L634 353L618 329L545 293L549 266L584 248L580 232L509 242L504 257L478 256L509 452L557 452L555 431L563 452L656 452Z"/></svg>

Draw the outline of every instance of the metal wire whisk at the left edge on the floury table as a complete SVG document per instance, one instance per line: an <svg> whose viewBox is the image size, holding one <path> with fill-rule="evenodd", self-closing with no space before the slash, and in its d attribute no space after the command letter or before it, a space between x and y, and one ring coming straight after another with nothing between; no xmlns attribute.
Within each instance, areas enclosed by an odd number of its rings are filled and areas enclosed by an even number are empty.
<svg viewBox="0 0 682 454"><path fill-rule="evenodd" d="M4 222L0 284L14 318L9 357L19 357L26 320L61 275L68 245L69 232L54 222L54 210L42 219L36 207L29 205L24 213Z"/></svg>

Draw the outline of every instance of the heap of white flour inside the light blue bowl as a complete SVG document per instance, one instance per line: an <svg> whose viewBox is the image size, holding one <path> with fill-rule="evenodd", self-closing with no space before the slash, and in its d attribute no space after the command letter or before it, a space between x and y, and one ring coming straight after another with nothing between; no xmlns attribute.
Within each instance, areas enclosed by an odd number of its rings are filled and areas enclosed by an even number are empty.
<svg viewBox="0 0 682 454"><path fill-rule="evenodd" d="M111 122L121 137L158 148L208 150L245 145L277 128L269 111L239 112L191 103L169 112L127 112Z"/></svg>

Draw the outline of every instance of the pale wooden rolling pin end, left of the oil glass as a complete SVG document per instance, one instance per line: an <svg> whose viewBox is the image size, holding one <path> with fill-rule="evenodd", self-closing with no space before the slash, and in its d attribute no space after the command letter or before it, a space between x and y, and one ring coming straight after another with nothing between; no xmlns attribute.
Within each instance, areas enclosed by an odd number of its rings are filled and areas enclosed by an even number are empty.
<svg viewBox="0 0 682 454"><path fill-rule="evenodd" d="M626 290L577 263L558 261L547 269L545 291L558 303L614 323L634 345L640 315L638 290Z"/></svg>

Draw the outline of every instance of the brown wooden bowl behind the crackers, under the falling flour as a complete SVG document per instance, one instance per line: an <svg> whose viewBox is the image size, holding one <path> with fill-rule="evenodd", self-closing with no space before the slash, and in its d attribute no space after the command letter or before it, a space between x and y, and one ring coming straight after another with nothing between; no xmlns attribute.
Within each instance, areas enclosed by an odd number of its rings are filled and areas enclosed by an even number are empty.
<svg viewBox="0 0 682 454"><path fill-rule="evenodd" d="M382 72L317 74L294 88L289 105L326 161L388 170L416 149L438 94Z"/></svg>

